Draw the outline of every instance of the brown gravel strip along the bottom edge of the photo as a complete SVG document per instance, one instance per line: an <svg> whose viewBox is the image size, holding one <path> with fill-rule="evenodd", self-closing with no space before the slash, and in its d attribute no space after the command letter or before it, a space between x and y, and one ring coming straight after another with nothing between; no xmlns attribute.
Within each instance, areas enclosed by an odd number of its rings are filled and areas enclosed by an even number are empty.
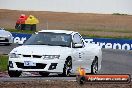
<svg viewBox="0 0 132 88"><path fill-rule="evenodd" d="M0 88L132 88L130 84L106 84L106 83L85 83L78 84L75 81L21 81L21 82L0 82Z"/></svg>

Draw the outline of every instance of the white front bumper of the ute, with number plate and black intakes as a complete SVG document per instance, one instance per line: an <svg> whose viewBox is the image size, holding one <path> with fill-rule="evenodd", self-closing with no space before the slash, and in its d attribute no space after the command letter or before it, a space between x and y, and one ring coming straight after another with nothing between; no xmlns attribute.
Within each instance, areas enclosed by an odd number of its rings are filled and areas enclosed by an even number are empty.
<svg viewBox="0 0 132 88"><path fill-rule="evenodd" d="M62 73L64 60L44 60L38 58L9 58L9 70L11 71L44 71L49 73Z"/></svg>

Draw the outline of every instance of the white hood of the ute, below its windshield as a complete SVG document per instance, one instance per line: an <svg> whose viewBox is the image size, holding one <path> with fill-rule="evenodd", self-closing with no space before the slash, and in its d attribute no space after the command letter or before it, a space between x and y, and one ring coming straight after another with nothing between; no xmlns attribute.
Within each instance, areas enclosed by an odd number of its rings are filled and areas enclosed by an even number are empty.
<svg viewBox="0 0 132 88"><path fill-rule="evenodd" d="M47 45L23 45L11 51L11 53L22 55L60 55L65 52L70 52L70 48Z"/></svg>

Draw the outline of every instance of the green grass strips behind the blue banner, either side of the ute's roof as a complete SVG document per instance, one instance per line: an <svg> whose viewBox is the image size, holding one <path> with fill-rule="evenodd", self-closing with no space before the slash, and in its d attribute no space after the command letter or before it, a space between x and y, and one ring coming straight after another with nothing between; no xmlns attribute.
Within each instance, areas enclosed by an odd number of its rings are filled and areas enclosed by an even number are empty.
<svg viewBox="0 0 132 88"><path fill-rule="evenodd" d="M17 29L6 29L10 32L16 32L16 33L26 33L26 34L33 34L35 31L30 31L30 30L17 30ZM84 29L79 29L79 31L95 31L95 32L113 32L113 33L132 33L132 30L125 30L125 29L94 29L94 28L91 28L91 29L87 29L87 28L84 28ZM83 36L85 37L90 37L90 38L116 38L116 39L132 39L132 36L99 36L99 35L96 35L96 34L82 34Z"/></svg>

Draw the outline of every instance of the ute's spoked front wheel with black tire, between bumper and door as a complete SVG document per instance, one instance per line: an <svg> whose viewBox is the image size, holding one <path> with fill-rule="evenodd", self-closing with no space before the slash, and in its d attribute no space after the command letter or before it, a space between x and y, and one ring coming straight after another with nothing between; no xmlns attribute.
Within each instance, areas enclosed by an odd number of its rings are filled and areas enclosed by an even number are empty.
<svg viewBox="0 0 132 88"><path fill-rule="evenodd" d="M70 70L72 69L72 59L71 58L67 58L64 64L64 68L63 68L63 73L62 76L70 76L71 72Z"/></svg>

